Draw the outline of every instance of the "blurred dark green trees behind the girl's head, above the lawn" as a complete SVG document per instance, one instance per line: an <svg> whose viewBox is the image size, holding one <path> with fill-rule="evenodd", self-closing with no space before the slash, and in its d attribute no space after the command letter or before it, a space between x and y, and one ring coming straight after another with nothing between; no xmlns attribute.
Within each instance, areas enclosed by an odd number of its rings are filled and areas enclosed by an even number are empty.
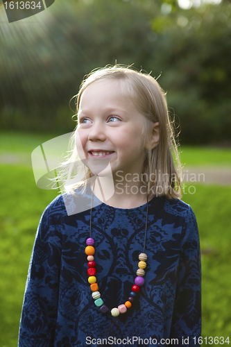
<svg viewBox="0 0 231 347"><path fill-rule="evenodd" d="M182 10L175 0L70 0L38 16L1 27L2 128L73 130L69 100L83 76L117 61L162 74L182 143L230 142L228 1Z"/></svg>

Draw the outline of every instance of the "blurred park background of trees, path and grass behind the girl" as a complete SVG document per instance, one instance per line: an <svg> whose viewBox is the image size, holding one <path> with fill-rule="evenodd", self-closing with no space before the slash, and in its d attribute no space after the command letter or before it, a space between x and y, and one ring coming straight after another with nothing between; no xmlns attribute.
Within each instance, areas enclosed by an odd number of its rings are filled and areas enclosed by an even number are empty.
<svg viewBox="0 0 231 347"><path fill-rule="evenodd" d="M192 206L200 232L203 337L224 337L228 345L230 1L55 1L10 24L0 5L0 33L0 347L17 346L37 224L58 194L36 187L31 152L74 130L69 101L83 77L115 62L152 71L167 93L188 174L182 199Z"/></svg>

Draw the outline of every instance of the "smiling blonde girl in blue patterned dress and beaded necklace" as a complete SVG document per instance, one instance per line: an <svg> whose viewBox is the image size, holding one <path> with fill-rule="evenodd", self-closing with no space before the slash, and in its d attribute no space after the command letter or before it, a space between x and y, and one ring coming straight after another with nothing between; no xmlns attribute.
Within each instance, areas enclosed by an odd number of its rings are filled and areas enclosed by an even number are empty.
<svg viewBox="0 0 231 347"><path fill-rule="evenodd" d="M163 91L116 65L89 74L76 105L66 186L78 158L85 178L42 214L19 347L199 346L198 228Z"/></svg>

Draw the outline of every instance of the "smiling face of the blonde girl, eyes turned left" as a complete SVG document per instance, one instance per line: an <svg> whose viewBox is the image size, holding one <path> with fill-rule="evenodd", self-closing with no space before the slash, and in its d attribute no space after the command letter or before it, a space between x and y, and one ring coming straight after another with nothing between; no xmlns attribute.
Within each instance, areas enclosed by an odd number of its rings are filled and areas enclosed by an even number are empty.
<svg viewBox="0 0 231 347"><path fill-rule="evenodd" d="M92 83L80 98L76 130L77 150L79 155L82 153L80 158L85 158L83 162L93 174L99 174L108 163L113 176L117 171L123 177L142 174L144 121L145 117L123 94L119 80Z"/></svg>

